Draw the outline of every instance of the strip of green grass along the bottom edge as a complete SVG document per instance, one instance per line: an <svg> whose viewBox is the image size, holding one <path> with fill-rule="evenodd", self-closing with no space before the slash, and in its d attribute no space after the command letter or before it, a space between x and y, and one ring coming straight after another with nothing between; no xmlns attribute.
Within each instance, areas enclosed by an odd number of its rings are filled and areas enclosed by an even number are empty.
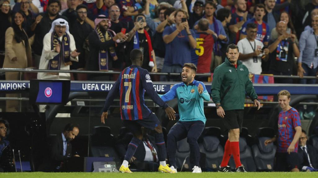
<svg viewBox="0 0 318 178"><path fill-rule="evenodd" d="M182 172L177 174L163 174L150 172L135 172L133 174L122 173L0 173L1 178L317 178L317 173L311 172L249 172L249 173L216 173L204 172L192 174Z"/></svg>

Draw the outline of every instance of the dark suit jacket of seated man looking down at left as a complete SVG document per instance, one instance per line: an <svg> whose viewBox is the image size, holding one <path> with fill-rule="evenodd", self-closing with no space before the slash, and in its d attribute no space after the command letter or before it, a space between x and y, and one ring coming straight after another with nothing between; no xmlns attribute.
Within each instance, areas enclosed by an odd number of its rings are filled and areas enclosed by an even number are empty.
<svg viewBox="0 0 318 178"><path fill-rule="evenodd" d="M72 156L72 144L67 142L66 154L63 156L63 138L62 134L58 134L52 138L50 147L50 154L47 159L44 160L44 164L40 166L39 170L44 172L58 172L63 170L63 166L58 170L58 166L61 166L61 162L65 162Z"/></svg>

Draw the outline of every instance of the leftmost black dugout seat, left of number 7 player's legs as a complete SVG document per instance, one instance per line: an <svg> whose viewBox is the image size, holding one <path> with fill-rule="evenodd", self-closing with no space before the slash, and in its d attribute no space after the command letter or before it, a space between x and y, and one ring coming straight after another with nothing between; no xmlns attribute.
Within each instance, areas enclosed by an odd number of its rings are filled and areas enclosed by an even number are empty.
<svg viewBox="0 0 318 178"><path fill-rule="evenodd" d="M119 156L114 148L116 139L107 126L96 126L95 133L91 136L91 154L93 157L114 157L119 161Z"/></svg>

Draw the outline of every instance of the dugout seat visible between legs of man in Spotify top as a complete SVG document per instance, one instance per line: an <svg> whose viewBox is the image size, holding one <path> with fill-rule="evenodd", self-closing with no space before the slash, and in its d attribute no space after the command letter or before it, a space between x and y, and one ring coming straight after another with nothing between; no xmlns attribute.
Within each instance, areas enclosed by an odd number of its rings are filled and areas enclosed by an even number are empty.
<svg viewBox="0 0 318 178"><path fill-rule="evenodd" d="M187 138L180 140L177 142L177 149L176 149L176 168L180 170L183 162L185 160L183 171L192 169L190 165L190 145L187 142Z"/></svg>

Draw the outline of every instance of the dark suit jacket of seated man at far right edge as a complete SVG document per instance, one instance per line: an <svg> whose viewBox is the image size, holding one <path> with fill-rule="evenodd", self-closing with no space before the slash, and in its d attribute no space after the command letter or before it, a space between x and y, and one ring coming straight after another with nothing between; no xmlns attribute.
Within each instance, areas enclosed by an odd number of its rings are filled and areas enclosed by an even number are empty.
<svg viewBox="0 0 318 178"><path fill-rule="evenodd" d="M318 168L318 150L315 147L307 144L307 153L310 158L310 162L312 166L317 169ZM304 158L304 151L301 149L300 146L298 146L298 155L301 158L301 168L303 166L310 166L309 163L305 161L306 158Z"/></svg>

